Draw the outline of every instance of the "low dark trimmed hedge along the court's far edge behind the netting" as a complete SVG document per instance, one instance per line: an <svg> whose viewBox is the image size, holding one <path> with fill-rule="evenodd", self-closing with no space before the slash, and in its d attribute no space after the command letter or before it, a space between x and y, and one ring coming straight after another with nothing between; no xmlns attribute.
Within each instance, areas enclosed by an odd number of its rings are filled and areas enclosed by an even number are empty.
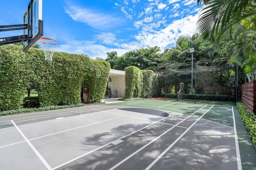
<svg viewBox="0 0 256 170"><path fill-rule="evenodd" d="M160 94L160 97L164 98L165 94ZM166 94L166 98L177 98L177 94ZM194 94L183 94L184 99L195 99ZM212 100L212 101L225 101L234 102L234 96L223 94L196 94L196 100Z"/></svg>

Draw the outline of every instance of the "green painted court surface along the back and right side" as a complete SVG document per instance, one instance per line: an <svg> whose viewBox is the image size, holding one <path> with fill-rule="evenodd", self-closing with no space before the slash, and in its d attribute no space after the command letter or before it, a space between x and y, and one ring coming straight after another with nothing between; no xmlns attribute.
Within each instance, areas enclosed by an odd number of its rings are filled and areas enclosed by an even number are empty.
<svg viewBox="0 0 256 170"><path fill-rule="evenodd" d="M236 106L221 106L212 104L193 104L185 102L170 102L162 100L136 100L104 104L108 106L129 106L158 109L193 115L209 121L234 128L237 134L240 159L244 170L256 170L256 152L248 136L244 123ZM201 109L200 109L201 108ZM203 128L203 127L202 127Z"/></svg>

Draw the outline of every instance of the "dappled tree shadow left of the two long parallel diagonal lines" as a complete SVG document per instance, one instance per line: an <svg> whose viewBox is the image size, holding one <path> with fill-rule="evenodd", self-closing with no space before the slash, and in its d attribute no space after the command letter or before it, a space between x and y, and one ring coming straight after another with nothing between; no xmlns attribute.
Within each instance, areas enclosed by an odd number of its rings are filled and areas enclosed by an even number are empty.
<svg viewBox="0 0 256 170"><path fill-rule="evenodd" d="M84 147L90 147L90 145L98 145L98 147L104 146L107 143L115 141L122 136L128 135L142 127L145 127L145 124L133 125L126 124L120 125L118 127L112 128L108 133L98 133L93 135L90 138L85 138L83 141ZM74 169L86 169L86 170L99 170L99 169L109 169L112 166L115 166L135 152L140 149L148 142L152 141L155 136L154 134L159 131L161 127L158 126L150 126L145 131L138 131L134 134L131 134L127 137L121 139L123 142L118 145L109 144L104 146L94 152L83 156L82 158L71 162L65 166L62 166L58 169L65 170L74 170ZM164 130L162 130L164 131ZM162 133L161 131L159 133ZM96 148L94 148L96 149ZM93 149L92 149L93 150Z"/></svg>

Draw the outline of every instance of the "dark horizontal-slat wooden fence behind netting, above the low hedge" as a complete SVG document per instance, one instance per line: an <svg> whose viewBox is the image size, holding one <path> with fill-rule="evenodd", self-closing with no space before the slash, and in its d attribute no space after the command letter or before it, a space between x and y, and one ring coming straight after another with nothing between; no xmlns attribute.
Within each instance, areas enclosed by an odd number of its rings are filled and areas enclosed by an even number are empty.
<svg viewBox="0 0 256 170"><path fill-rule="evenodd" d="M204 87L204 94L226 94L226 95L234 95L235 88L234 87Z"/></svg>

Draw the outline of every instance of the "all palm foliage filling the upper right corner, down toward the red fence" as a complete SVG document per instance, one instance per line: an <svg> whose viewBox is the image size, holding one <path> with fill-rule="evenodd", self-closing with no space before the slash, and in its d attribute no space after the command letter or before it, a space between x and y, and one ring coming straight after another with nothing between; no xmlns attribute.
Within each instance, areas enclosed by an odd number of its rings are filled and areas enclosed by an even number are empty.
<svg viewBox="0 0 256 170"><path fill-rule="evenodd" d="M224 38L233 41L231 62L256 71L256 0L197 0L206 6L198 20L198 31L216 44ZM248 78L249 79L249 78Z"/></svg>

